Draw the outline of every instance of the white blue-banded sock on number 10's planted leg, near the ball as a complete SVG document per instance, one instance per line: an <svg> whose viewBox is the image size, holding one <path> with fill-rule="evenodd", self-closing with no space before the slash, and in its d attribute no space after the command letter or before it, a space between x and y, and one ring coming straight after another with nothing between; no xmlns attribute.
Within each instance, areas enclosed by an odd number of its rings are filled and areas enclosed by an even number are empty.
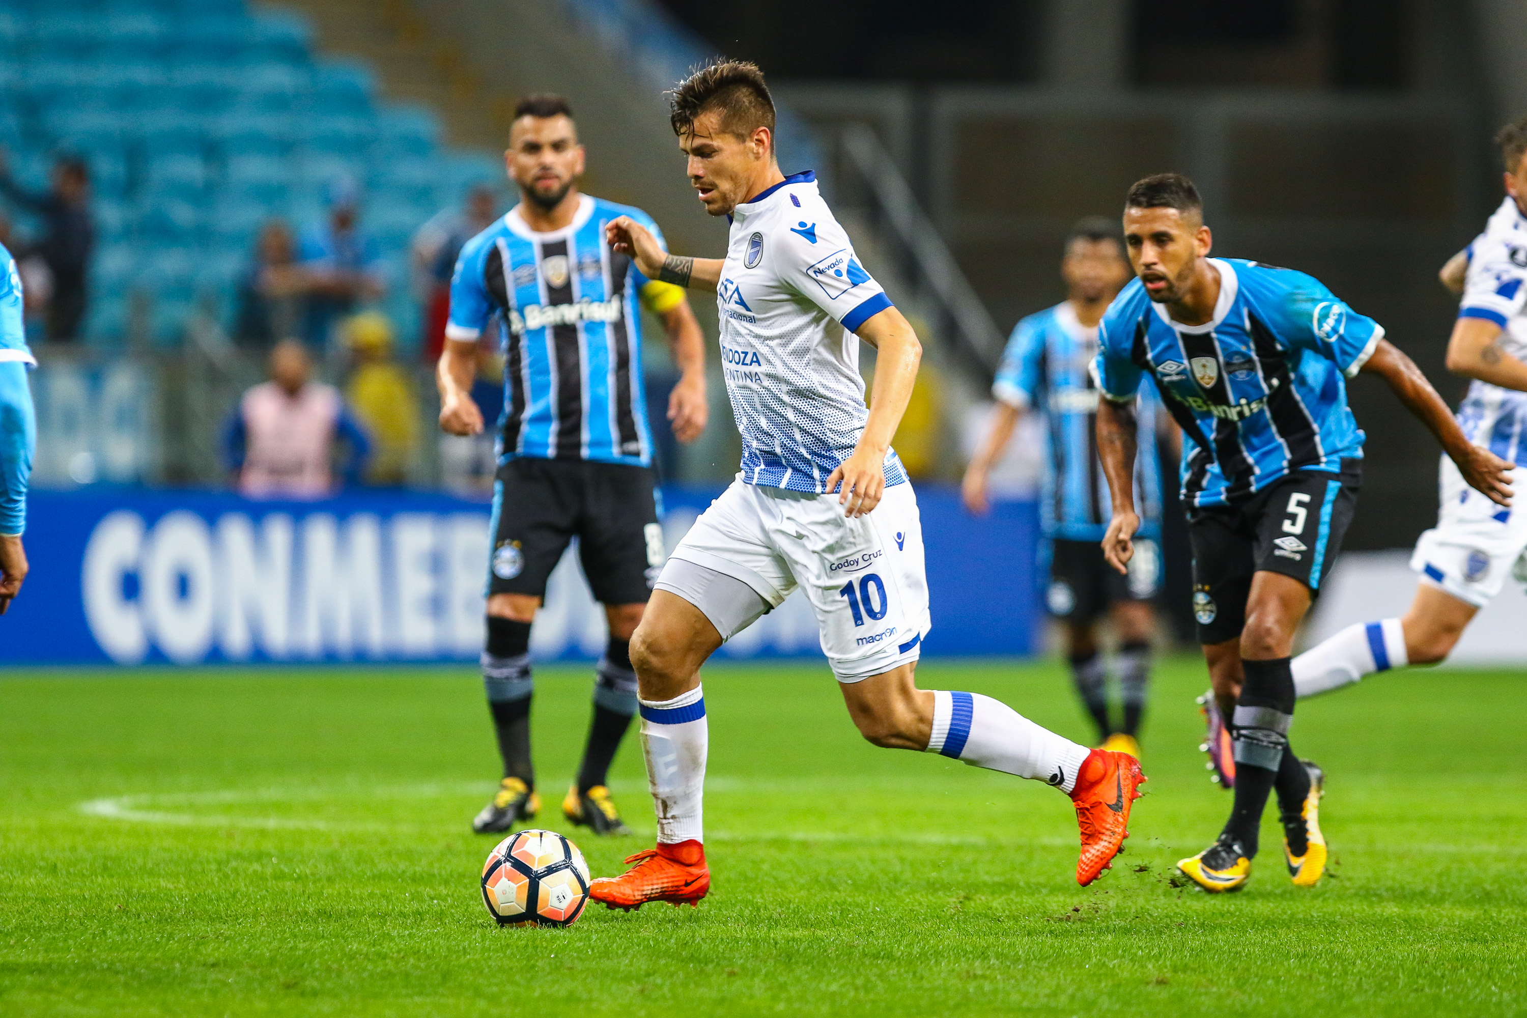
<svg viewBox="0 0 1527 1018"><path fill-rule="evenodd" d="M701 687L670 701L637 701L641 711L641 752L647 759L647 786L658 813L658 841L705 839L705 697Z"/></svg>

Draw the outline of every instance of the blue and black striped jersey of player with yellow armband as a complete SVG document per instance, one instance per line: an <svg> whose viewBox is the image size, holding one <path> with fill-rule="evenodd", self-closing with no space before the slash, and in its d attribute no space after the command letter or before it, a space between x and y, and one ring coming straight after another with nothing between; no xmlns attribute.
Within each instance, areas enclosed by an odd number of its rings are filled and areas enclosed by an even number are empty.
<svg viewBox="0 0 1527 1018"><path fill-rule="evenodd" d="M538 234L516 206L457 258L446 337L499 324L502 459L652 462L638 304L663 313L684 293L606 246L605 224L621 215L663 241L641 209L582 195L565 229Z"/></svg>

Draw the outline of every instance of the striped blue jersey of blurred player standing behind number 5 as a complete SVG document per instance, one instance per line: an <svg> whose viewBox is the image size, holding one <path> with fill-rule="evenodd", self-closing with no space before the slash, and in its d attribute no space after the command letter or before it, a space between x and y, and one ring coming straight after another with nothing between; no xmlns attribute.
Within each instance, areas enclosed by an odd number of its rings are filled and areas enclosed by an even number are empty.
<svg viewBox="0 0 1527 1018"><path fill-rule="evenodd" d="M1077 321L1070 302L1031 314L1008 339L993 395L1044 414L1049 433L1040 522L1046 537L1102 540L1112 516L1109 481L1098 458L1098 388L1092 379L1098 330ZM1161 533L1161 459L1156 414L1161 403L1141 391L1135 508L1141 534Z"/></svg>

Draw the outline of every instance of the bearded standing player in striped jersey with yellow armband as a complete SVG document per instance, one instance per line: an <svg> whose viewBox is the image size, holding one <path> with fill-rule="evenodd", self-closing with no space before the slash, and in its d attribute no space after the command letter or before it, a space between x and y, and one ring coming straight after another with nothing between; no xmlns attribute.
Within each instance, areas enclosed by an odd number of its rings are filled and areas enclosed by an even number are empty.
<svg viewBox="0 0 1527 1018"><path fill-rule="evenodd" d="M568 542L594 598L605 604L609 644L594 684L594 720L577 780L562 810L597 833L625 833L608 772L631 716L637 676L631 633L663 565L652 435L641 385L641 307L663 319L683 377L667 417L680 441L705 427L705 346L684 292L657 282L605 241L605 224L640 209L579 192L583 147L567 99L533 95L515 108L505 153L521 201L461 249L450 284L450 321L440 357L440 426L481 433L472 398L478 337L507 324L493 490L493 552L483 682L504 759L499 791L472 821L508 830L541 807L530 754L530 626L547 578Z"/></svg>

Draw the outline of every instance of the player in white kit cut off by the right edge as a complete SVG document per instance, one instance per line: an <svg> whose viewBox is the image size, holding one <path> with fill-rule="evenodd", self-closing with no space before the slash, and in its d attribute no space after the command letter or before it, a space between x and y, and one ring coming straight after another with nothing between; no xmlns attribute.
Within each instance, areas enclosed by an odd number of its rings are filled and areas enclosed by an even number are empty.
<svg viewBox="0 0 1527 1018"><path fill-rule="evenodd" d="M1512 464L1515 488L1527 481L1527 118L1495 143L1506 160L1506 198L1441 278L1463 296L1448 369L1474 379L1458 424L1477 447ZM1420 580L1403 618L1348 626L1293 659L1299 696L1445 659L1507 575L1527 583L1527 511L1471 490L1443 456L1437 527L1416 543L1411 569Z"/></svg>

